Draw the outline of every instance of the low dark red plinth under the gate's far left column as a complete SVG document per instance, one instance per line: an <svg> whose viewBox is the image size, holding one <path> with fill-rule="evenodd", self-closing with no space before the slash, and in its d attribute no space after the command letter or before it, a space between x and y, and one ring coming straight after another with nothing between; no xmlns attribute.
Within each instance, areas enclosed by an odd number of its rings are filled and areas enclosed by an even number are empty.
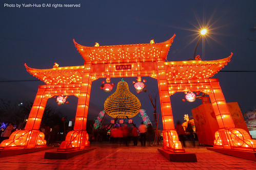
<svg viewBox="0 0 256 170"><path fill-rule="evenodd" d="M6 156L13 156L13 155L21 155L21 154L27 154L31 152L37 152L37 151L44 151L44 150L50 150L54 147L40 147L40 148L21 148L21 149L6 149L6 150L0 150L0 158L6 157Z"/></svg>

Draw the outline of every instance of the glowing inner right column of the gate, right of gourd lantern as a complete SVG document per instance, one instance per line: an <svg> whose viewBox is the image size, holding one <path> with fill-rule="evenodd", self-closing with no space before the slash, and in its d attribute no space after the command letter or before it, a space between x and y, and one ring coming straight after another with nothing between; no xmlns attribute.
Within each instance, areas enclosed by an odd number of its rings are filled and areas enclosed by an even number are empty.
<svg viewBox="0 0 256 170"><path fill-rule="evenodd" d="M164 149L172 152L185 152L182 149L182 144L179 141L178 134L174 128L164 62L161 62L161 61L157 62L157 70L158 70L157 83L159 87L159 97L160 97L163 128L164 128L163 130Z"/></svg>

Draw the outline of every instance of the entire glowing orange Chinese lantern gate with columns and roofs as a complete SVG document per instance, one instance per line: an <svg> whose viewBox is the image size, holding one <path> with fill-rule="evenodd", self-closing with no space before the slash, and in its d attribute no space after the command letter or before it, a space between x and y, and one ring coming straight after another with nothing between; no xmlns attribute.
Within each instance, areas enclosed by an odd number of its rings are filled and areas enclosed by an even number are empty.
<svg viewBox="0 0 256 170"><path fill-rule="evenodd" d="M256 140L243 129L234 127L218 79L210 79L229 61L229 57L201 61L197 56L192 61L166 62L175 35L161 43L83 46L74 41L75 47L85 62L82 66L34 69L27 71L44 81L40 85L32 106L25 130L15 131L0 147L33 148L45 145L44 135L38 130L49 98L58 95L74 95L78 98L74 130L68 132L58 151L66 152L89 147L86 122L92 81L99 78L151 77L157 80L163 121L164 149L185 152L174 129L170 96L176 92L204 92L210 96L220 129L215 133L214 147L248 150L256 149Z"/></svg>

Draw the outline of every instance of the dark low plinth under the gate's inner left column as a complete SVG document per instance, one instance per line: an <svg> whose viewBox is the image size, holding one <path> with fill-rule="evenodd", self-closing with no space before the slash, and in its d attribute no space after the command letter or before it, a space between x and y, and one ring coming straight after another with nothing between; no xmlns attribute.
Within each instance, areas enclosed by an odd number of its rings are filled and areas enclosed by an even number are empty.
<svg viewBox="0 0 256 170"><path fill-rule="evenodd" d="M45 159L69 159L76 155L80 155L89 151L94 150L95 148L87 148L83 150L76 150L76 151L70 151L70 152L46 152L45 153Z"/></svg>

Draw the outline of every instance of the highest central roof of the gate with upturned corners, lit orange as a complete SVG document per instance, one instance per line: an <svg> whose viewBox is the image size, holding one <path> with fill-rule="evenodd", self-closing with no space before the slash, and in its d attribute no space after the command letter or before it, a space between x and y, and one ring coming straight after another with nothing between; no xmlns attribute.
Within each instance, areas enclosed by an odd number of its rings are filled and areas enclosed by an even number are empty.
<svg viewBox="0 0 256 170"><path fill-rule="evenodd" d="M75 47L86 62L114 63L136 61L165 61L175 34L167 41L153 44L128 44L83 46L74 41Z"/></svg>

